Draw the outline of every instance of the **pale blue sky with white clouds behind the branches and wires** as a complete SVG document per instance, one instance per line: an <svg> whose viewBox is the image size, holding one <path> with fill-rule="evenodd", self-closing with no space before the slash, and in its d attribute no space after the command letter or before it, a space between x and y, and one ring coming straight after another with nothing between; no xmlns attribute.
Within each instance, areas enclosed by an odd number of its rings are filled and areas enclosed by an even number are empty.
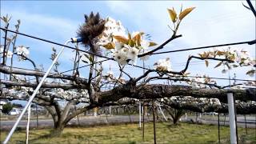
<svg viewBox="0 0 256 144"><path fill-rule="evenodd" d="M243 2L247 5L246 1ZM255 1L253 2L255 6ZM183 8L195 6L182 22L178 34L182 38L170 42L162 51L179 50L197 46L209 46L230 42L243 42L255 39L254 14L242 6L242 1L157 1L157 2L130 2L130 1L1 1L1 16L9 14L12 16L10 29L21 19L20 32L31 34L40 38L46 38L54 42L63 43L76 35L78 26L84 21L83 14L90 11L99 12L102 18L110 16L121 20L122 24L130 31L144 31L152 36L152 40L161 44L171 36L171 25L167 8L174 7L179 11ZM1 22L1 26L3 26ZM2 36L2 32L1 32ZM1 39L2 44L2 39ZM50 53L53 44L40 42L23 36L18 37L17 45L30 46L30 58L38 65L43 64L45 69L50 66ZM59 46L54 46L59 48ZM235 49L250 51L250 56L255 58L255 45L231 46ZM58 49L59 50L59 49ZM72 50L65 50L59 62L60 71L72 69L70 58L74 56ZM146 66L153 66L159 58L170 58L173 70L182 70L186 59L190 54L197 55L203 50L193 50L172 54L160 54L150 57ZM112 67L118 75L116 62L105 62L104 67ZM138 62L138 65L141 65ZM228 78L228 74L222 74L222 68L214 69L216 62L210 62L206 67L205 62L194 60L188 72L191 75L207 74L211 77ZM28 62L15 62L14 66L32 68ZM255 79L246 75L248 67L230 70L231 77L234 73L237 78ZM131 75L138 76L142 70L127 66ZM87 69L83 69L83 77L87 77ZM226 81L218 81L220 85L226 85Z"/></svg>

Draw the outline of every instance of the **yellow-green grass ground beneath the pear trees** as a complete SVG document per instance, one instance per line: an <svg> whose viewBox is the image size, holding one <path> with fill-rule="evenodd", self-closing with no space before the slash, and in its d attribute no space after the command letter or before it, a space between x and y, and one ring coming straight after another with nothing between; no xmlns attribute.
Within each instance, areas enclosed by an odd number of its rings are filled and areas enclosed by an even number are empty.
<svg viewBox="0 0 256 144"><path fill-rule="evenodd" d="M218 143L218 126L182 123L178 126L170 123L156 124L157 143ZM1 132L1 142L6 138ZM138 124L117 126L67 127L58 138L50 138L50 129L30 130L30 143L154 143L153 123L146 123L145 142L142 142L142 130ZM254 129L238 128L240 143L256 143ZM25 143L26 131L15 131L10 143ZM221 142L229 142L229 127L221 127Z"/></svg>

